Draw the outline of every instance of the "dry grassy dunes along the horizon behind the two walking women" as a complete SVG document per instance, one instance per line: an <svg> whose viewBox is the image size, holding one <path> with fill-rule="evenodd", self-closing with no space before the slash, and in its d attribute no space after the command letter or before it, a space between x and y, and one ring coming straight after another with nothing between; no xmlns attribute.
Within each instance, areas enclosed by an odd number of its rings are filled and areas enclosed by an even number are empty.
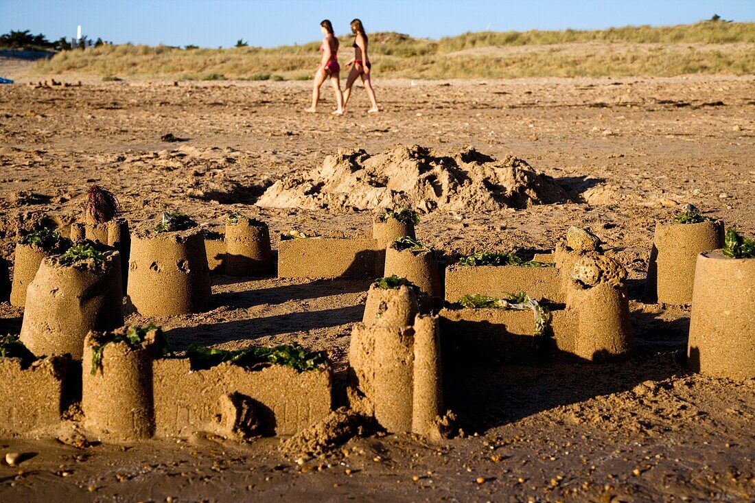
<svg viewBox="0 0 755 503"><path fill-rule="evenodd" d="M342 37L341 59L351 57ZM477 32L437 41L371 34L373 69L414 79L676 76L755 73L755 23L627 26L560 32ZM171 79L307 79L319 42L279 48L180 49L146 45L66 51L32 73Z"/></svg>

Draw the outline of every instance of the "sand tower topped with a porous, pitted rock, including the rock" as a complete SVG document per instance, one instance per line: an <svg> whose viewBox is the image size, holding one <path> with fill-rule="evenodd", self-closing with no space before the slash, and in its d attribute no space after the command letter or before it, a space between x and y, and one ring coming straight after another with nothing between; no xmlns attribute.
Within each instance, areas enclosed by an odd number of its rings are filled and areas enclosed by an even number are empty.
<svg viewBox="0 0 755 503"><path fill-rule="evenodd" d="M627 271L612 258L585 256L572 269L567 308L576 311L575 354L591 362L624 360L633 350Z"/></svg>

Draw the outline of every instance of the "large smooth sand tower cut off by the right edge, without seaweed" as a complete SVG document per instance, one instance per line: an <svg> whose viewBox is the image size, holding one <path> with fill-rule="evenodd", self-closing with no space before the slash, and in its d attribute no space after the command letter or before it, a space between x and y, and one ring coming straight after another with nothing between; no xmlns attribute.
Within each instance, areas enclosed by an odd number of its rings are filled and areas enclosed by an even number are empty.
<svg viewBox="0 0 755 503"><path fill-rule="evenodd" d="M698 255L689 325L689 369L755 378L755 258Z"/></svg>

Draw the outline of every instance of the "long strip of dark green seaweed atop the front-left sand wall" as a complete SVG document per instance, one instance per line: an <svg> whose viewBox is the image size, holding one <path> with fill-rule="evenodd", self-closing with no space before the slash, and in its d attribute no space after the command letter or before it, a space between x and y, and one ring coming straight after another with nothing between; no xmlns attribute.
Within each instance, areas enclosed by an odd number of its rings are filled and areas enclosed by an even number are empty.
<svg viewBox="0 0 755 503"><path fill-rule="evenodd" d="M260 364L282 365L297 372L322 368L328 364L325 351L307 351L298 346L281 345L276 347L248 347L242 350L221 350L191 344L186 348L193 369L211 369L220 363L251 368Z"/></svg>

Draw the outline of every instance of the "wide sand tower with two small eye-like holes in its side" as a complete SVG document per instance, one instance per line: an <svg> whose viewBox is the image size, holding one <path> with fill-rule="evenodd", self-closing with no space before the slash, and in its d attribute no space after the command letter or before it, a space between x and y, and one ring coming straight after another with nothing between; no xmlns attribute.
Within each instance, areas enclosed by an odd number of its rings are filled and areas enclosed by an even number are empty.
<svg viewBox="0 0 755 503"><path fill-rule="evenodd" d="M131 239L128 301L143 316L208 310L210 271L202 230L143 230Z"/></svg>

